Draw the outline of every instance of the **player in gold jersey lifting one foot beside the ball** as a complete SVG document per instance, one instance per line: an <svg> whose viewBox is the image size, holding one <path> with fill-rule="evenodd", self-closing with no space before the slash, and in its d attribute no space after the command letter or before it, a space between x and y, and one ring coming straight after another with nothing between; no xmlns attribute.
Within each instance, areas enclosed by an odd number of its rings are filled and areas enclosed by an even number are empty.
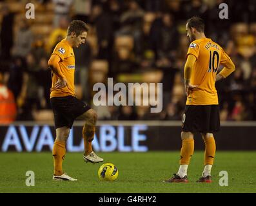
<svg viewBox="0 0 256 206"><path fill-rule="evenodd" d="M84 161L103 162L103 158L97 156L92 150L92 140L94 140L97 114L83 101L75 97L75 55L73 48L85 43L88 26L83 21L74 20L68 27L68 35L59 42L48 61L52 70L52 88L50 102L54 111L54 122L56 129L56 139L52 154L54 156L54 180L70 180L64 174L62 163L66 154L66 140L75 118L84 120ZM85 57L86 58L86 57Z"/></svg>

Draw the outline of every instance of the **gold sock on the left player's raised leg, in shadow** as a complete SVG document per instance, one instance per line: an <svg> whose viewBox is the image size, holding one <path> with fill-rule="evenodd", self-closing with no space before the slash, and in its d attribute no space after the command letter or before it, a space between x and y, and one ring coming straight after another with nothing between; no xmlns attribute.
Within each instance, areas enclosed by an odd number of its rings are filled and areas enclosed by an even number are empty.
<svg viewBox="0 0 256 206"><path fill-rule="evenodd" d="M88 155L92 152L92 140L94 140L95 126L85 124L83 127L84 138L84 154Z"/></svg>

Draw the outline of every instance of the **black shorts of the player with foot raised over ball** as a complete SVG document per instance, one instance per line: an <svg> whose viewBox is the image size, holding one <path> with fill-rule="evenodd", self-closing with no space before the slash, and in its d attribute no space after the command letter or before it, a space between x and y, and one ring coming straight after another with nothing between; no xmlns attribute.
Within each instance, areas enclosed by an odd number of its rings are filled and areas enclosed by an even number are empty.
<svg viewBox="0 0 256 206"><path fill-rule="evenodd" d="M56 129L64 126L72 128L75 118L91 109L86 103L71 95L66 97L52 97L50 98L50 102L54 111Z"/></svg>

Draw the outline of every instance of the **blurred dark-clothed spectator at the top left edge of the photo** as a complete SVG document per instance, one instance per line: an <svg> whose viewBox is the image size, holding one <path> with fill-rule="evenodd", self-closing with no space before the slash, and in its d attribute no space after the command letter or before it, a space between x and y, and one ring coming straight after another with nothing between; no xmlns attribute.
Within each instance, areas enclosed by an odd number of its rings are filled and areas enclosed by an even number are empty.
<svg viewBox="0 0 256 206"><path fill-rule="evenodd" d="M10 50L13 46L13 28L14 28L14 14L12 14L8 6L3 5L1 9L3 15L1 23L0 43L1 43L1 59L10 61Z"/></svg>

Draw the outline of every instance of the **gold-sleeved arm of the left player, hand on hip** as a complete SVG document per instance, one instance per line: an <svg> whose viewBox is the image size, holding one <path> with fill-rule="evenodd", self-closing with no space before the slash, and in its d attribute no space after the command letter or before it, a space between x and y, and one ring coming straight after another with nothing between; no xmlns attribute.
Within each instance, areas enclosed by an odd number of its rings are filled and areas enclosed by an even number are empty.
<svg viewBox="0 0 256 206"><path fill-rule="evenodd" d="M59 80L54 85L54 88L56 89L64 88L67 85L66 78L61 72L61 67L59 66L59 62L61 62L61 58L55 54L53 54L48 61L48 66L50 70L52 70L55 73L55 75L59 77Z"/></svg>

